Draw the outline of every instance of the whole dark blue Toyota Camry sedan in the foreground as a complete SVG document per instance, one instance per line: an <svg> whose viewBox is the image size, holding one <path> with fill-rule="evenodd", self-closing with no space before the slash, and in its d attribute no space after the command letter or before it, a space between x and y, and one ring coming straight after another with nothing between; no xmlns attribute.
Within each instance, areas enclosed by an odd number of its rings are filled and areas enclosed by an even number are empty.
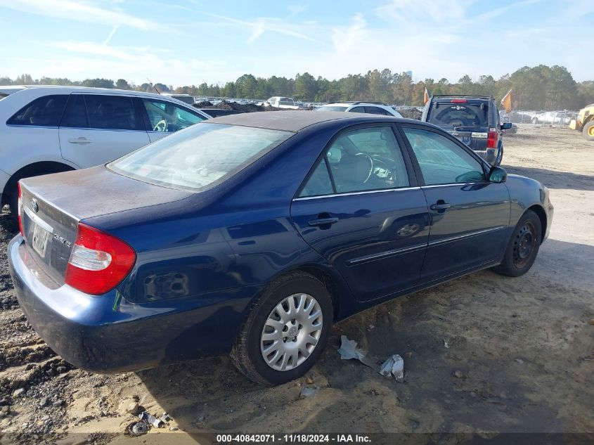
<svg viewBox="0 0 594 445"><path fill-rule="evenodd" d="M332 323L480 269L521 276L548 189L415 120L259 112L108 165L20 181L8 246L34 329L116 373L231 351L247 377L306 373Z"/></svg>

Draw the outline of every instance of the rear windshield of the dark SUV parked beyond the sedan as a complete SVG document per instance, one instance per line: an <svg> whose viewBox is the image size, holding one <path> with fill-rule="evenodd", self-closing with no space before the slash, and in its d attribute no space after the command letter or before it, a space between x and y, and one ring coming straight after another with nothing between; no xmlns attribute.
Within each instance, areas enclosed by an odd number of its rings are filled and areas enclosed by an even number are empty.
<svg viewBox="0 0 594 445"><path fill-rule="evenodd" d="M427 122L441 127L488 127L489 105L472 103L436 103Z"/></svg>

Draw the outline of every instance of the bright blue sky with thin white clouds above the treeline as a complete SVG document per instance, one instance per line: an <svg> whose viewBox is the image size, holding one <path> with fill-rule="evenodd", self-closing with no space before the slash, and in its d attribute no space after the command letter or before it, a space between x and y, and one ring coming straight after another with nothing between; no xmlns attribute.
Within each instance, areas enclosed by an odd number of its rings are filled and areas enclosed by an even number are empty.
<svg viewBox="0 0 594 445"><path fill-rule="evenodd" d="M0 0L0 77L221 84L243 74L594 79L591 0ZM589 50L588 50L589 51Z"/></svg>

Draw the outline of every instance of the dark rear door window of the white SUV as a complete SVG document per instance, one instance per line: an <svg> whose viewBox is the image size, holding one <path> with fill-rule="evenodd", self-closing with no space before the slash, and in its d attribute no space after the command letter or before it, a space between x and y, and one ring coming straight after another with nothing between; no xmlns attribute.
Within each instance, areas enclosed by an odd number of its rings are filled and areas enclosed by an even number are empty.
<svg viewBox="0 0 594 445"><path fill-rule="evenodd" d="M89 128L110 130L141 130L134 110L133 98L107 94L85 94Z"/></svg>

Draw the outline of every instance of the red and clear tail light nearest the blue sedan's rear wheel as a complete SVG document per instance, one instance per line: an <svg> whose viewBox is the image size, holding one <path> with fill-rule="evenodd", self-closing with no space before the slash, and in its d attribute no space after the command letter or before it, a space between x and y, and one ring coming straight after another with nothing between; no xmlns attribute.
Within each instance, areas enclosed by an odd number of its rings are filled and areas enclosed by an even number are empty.
<svg viewBox="0 0 594 445"><path fill-rule="evenodd" d="M91 295L115 288L130 273L136 252L115 236L79 223L65 283Z"/></svg>

